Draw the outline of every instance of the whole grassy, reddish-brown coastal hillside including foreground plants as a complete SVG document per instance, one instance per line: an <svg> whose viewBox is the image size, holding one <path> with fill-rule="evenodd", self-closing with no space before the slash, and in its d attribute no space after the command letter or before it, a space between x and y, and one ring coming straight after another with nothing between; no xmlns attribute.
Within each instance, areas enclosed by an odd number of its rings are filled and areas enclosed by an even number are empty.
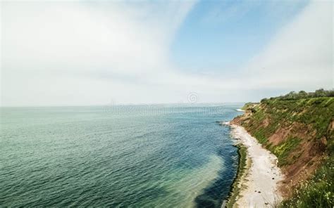
<svg viewBox="0 0 334 208"><path fill-rule="evenodd" d="M334 91L288 93L247 103L244 126L278 157L284 207L334 205ZM295 191L291 191L295 190Z"/></svg>

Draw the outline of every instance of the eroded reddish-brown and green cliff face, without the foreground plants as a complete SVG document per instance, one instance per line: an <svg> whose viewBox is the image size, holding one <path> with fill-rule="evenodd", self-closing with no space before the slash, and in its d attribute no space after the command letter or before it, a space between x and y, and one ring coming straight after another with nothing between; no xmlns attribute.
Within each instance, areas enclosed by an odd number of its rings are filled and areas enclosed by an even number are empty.
<svg viewBox="0 0 334 208"><path fill-rule="evenodd" d="M334 151L334 98L263 100L233 119L278 157L285 195Z"/></svg>

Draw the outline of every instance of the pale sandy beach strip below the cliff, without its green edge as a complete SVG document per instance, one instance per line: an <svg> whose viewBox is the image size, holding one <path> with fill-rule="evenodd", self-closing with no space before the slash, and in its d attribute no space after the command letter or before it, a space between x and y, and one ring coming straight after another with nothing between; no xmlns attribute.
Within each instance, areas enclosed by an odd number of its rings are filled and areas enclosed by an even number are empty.
<svg viewBox="0 0 334 208"><path fill-rule="evenodd" d="M283 180L283 175L277 166L277 157L262 148L242 126L229 125L237 143L247 147L247 163L250 164L238 184L240 195L233 207L273 207L282 198L278 182Z"/></svg>

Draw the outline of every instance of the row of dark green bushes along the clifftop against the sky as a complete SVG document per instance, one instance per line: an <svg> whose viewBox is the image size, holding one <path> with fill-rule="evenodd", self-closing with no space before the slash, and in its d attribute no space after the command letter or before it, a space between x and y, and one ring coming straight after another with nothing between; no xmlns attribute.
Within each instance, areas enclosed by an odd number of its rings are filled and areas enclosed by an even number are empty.
<svg viewBox="0 0 334 208"><path fill-rule="evenodd" d="M321 97L334 97L334 90L325 90L325 89L318 89L314 92L307 93L306 91L290 91L284 96L278 96L275 98L269 98L269 100L298 100L304 98L321 98ZM268 98L264 98L261 102L268 100Z"/></svg>

